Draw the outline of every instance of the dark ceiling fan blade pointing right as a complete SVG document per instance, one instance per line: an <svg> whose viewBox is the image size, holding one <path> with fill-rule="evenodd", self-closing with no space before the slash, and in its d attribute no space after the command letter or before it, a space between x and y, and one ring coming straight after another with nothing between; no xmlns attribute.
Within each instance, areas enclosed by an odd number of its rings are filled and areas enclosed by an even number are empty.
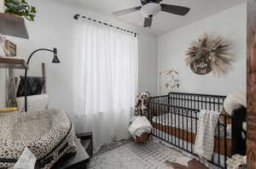
<svg viewBox="0 0 256 169"><path fill-rule="evenodd" d="M169 5L165 3L161 3L161 10L166 12L166 13L171 13L171 14L178 14L178 15L185 15L189 13L190 8L187 7L181 7L177 5Z"/></svg>

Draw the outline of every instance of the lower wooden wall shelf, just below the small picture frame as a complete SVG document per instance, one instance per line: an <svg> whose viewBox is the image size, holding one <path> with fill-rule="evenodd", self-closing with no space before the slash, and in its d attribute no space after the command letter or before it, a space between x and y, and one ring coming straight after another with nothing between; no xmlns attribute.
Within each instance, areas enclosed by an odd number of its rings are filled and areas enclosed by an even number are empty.
<svg viewBox="0 0 256 169"><path fill-rule="evenodd" d="M28 65L22 58L0 57L0 68L28 69Z"/></svg>

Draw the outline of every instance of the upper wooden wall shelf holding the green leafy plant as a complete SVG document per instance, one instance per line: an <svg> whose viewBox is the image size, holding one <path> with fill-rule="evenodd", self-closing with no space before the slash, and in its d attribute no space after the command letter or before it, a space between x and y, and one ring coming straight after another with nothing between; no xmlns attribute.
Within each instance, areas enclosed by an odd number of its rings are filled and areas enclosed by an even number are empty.
<svg viewBox="0 0 256 169"><path fill-rule="evenodd" d="M24 18L15 14L0 13L0 34L29 38Z"/></svg>

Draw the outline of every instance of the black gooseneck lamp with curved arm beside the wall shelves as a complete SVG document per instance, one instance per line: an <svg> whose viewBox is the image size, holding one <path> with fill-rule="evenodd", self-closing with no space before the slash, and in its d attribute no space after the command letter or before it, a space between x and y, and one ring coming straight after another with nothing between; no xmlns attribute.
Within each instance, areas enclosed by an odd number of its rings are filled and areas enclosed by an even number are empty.
<svg viewBox="0 0 256 169"><path fill-rule="evenodd" d="M33 54L37 53L38 51L49 51L49 52L53 53L54 59L52 60L52 63L54 63L54 64L61 63L60 60L58 59L57 48L54 48L53 50L49 50L47 48L39 48L39 49L35 50L34 52L32 52L32 54L30 54L30 56L27 59L27 65L29 65ZM27 78L27 68L25 70L25 77L24 77L24 81L25 81L25 93L24 93L24 95L25 95L25 112L27 111L27 80L26 80L26 78Z"/></svg>

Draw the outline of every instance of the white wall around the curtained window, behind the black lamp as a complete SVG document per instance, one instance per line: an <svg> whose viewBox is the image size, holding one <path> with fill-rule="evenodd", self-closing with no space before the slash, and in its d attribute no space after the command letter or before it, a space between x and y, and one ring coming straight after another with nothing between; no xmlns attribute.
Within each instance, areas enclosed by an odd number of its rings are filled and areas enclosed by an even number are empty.
<svg viewBox="0 0 256 169"><path fill-rule="evenodd" d="M104 20L113 25L125 27L137 31L131 25L125 25L114 21L101 14L96 14L89 10L79 7L73 7L70 4L60 3L54 0L31 0L34 6L38 8L38 14L34 22L27 22L30 39L20 38L10 39L18 45L18 54L27 57L33 50L38 48L58 48L61 59L60 65L51 64L52 54L42 52L36 54L31 62L29 76L38 76L41 74L41 63L47 64L47 90L49 93L49 106L57 109L67 110L72 114L73 111L73 31L77 20L73 19L74 14L85 14L96 20ZM157 71L157 38L151 35L139 33L139 50L141 69L140 76L143 80L151 78L152 72ZM155 46L153 48L153 46ZM149 47L149 48L148 48ZM144 60L155 60L148 62ZM16 73L22 73L16 72ZM150 76L149 76L150 73ZM154 77L153 79L156 79ZM140 89L146 88L152 93L157 93L156 82L148 80L147 83L139 84Z"/></svg>

